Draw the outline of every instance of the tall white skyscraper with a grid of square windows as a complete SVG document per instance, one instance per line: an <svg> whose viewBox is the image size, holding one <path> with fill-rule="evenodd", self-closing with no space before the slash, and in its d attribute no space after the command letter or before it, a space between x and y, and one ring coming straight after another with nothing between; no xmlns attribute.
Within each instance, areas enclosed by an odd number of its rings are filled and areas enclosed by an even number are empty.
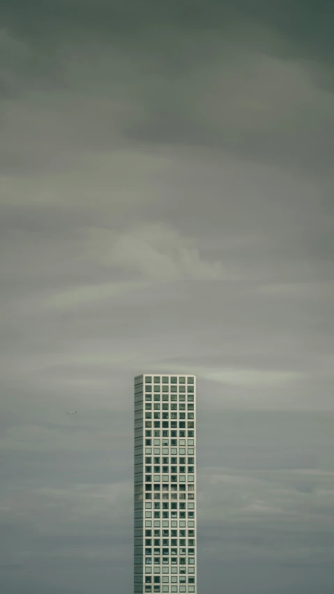
<svg viewBox="0 0 334 594"><path fill-rule="evenodd" d="M135 377L135 593L196 593L196 377Z"/></svg>

